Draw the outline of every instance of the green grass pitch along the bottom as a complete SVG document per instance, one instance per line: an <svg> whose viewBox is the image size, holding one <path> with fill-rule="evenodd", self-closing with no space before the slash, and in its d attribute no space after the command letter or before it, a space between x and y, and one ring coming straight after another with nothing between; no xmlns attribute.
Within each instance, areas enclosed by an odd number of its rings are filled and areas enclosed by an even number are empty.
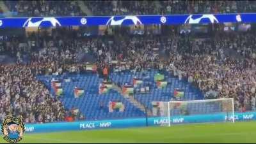
<svg viewBox="0 0 256 144"><path fill-rule="evenodd" d="M0 143L6 143L0 138ZM26 134L19 143L256 143L256 121Z"/></svg>

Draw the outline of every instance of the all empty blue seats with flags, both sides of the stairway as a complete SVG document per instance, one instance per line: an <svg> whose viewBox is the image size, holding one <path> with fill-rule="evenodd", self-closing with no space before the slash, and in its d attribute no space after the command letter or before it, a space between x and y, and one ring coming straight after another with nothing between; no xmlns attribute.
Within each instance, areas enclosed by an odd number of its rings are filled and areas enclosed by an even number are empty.
<svg viewBox="0 0 256 144"><path fill-rule="evenodd" d="M191 87L189 83L178 80L168 73L164 73L164 78L168 81L168 85L163 89L158 89L156 87L156 82L154 82L154 75L158 73L157 70L143 71L143 72L124 72L124 73L111 73L109 78L113 80L116 84L123 85L124 83L132 84L134 76L143 79L143 84L139 85L144 87L146 85L152 85L150 92L148 94L134 94L134 98L141 104L152 108L152 101L170 101L173 97L174 89L184 89L185 96L184 99L200 99L200 91ZM148 76L147 78L145 78ZM79 108L80 112L85 115L87 120L95 119L120 119L128 117L145 117L145 113L139 108L136 108L128 99L125 99L120 93L115 90L109 90L106 94L99 94L99 84L102 82L102 78L93 74L72 74L72 75L47 75L47 76L37 76L38 80L45 83L47 88L51 90L54 95L54 90L51 88L52 78L57 78L61 80L61 85L63 87L63 96L60 97L61 103L65 106L67 110L72 108ZM64 79L70 78L71 82L65 82ZM74 97L74 87L79 87L84 89L84 94L81 97ZM125 105L124 112L108 112L109 101L121 101ZM100 104L104 107L101 108Z"/></svg>

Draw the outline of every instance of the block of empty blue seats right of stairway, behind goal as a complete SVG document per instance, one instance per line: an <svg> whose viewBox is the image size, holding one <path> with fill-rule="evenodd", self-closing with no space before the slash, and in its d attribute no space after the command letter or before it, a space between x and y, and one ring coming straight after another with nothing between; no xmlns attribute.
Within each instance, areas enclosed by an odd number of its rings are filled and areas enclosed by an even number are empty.
<svg viewBox="0 0 256 144"><path fill-rule="evenodd" d="M143 83L138 85L136 89L140 89L141 87L145 87L146 85L150 85L150 92L147 94L134 94L134 98L140 103L144 104L148 108L152 108L152 101L170 101L174 96L173 92L175 89L184 90L185 94L180 100L193 100L200 99L200 91L195 90L195 88L191 87L188 82L180 81L178 78L174 76L164 73L164 80L168 82L168 85L162 89L157 88L157 84L154 81L154 75L159 73L159 71L143 71L143 72L125 72L125 73L117 73L111 75L112 80L115 83L128 83L132 84L132 80L134 77L143 80ZM147 78L146 78L147 77Z"/></svg>

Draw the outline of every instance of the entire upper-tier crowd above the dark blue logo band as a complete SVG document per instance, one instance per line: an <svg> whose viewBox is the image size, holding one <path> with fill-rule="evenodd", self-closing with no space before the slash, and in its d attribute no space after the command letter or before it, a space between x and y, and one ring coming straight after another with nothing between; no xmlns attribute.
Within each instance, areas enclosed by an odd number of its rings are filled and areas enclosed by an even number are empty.
<svg viewBox="0 0 256 144"><path fill-rule="evenodd" d="M84 16L77 1L4 1L22 17ZM255 1L83 1L93 15L250 13ZM82 7L83 8L83 7ZM87 13L88 14L88 13Z"/></svg>

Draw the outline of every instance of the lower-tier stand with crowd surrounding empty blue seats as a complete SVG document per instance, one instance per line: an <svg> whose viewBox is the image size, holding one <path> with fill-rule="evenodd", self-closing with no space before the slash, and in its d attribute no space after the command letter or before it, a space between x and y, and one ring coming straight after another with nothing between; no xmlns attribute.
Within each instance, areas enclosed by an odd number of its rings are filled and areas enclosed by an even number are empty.
<svg viewBox="0 0 256 144"><path fill-rule="evenodd" d="M79 109L79 115L74 120L144 117L143 108L150 110L152 101L170 101L175 88L185 90L185 99L202 99L203 95L205 99L234 97L236 110L255 110L253 31L216 31L208 36L210 39L203 41L188 41L179 32L170 36L157 36L153 33L147 35L145 31L144 35L129 35L129 39L125 41L108 35L88 36L84 40L83 35L79 34L81 31L59 27L52 30L51 34L42 30L35 47L31 45L36 40L33 33L23 39L15 37L2 40L1 54L15 57L18 66L1 64L1 117L7 115L7 112L13 112L14 115L30 112L29 115L22 114L26 122L61 121L74 115L76 108ZM72 39L71 34L74 36ZM188 36L189 39L194 37ZM22 46L20 43L26 45ZM157 56L154 56L153 48L159 48ZM168 57L167 62L162 61L163 52ZM86 63L79 62L78 55L81 53L92 55L96 59L97 74L85 70ZM232 55L241 59L232 59ZM122 61L125 64L109 63L112 61ZM122 96L118 89L110 90L103 94L104 96L98 93L97 85L104 80L102 69L106 64L109 68L109 80L119 89L122 89L125 83L132 84L134 77L145 78L145 83L134 90L134 101L144 107L136 106L131 99ZM79 79L70 84L64 82L63 97L56 97L49 86L56 72L62 78L70 75L74 81ZM163 89L158 89L154 83L156 73L163 73L168 82ZM144 86L150 87L147 94L139 92ZM74 87L84 87L85 94L75 98ZM37 94L29 93L29 89ZM28 99L28 96L35 98ZM108 102L116 100L124 103L124 112L109 113ZM11 105L9 109L6 104ZM104 110L101 110L99 105L102 105ZM47 108L42 110L40 107Z"/></svg>

